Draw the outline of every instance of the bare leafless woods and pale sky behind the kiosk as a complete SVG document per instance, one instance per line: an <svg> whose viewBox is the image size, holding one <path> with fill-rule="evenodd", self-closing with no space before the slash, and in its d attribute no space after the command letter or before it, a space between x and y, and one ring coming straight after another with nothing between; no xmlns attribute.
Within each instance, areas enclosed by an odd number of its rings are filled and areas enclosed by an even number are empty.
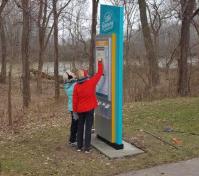
<svg viewBox="0 0 199 176"><path fill-rule="evenodd" d="M44 64L53 62L54 97L60 63L94 73L99 0L1 0L1 83L20 66L23 106L31 102L30 74L42 94ZM124 6L124 101L199 95L199 1L105 0ZM47 74L47 73L46 73ZM33 96L33 95L32 95Z"/></svg>

